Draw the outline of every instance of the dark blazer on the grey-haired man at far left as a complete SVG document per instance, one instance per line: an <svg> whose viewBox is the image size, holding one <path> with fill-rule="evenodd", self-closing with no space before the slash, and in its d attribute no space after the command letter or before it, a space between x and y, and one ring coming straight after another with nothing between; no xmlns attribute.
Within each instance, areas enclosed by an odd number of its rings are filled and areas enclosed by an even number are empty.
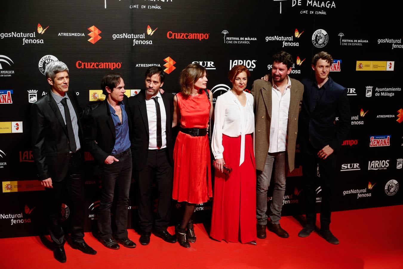
<svg viewBox="0 0 403 269"><path fill-rule="evenodd" d="M75 92L69 91L66 94L77 115L80 145L83 148L83 128L80 121L82 109ZM62 114L50 91L32 104L31 126L32 153L39 180L50 177L52 181L62 181L69 167L69 135ZM84 154L81 156L84 158Z"/></svg>

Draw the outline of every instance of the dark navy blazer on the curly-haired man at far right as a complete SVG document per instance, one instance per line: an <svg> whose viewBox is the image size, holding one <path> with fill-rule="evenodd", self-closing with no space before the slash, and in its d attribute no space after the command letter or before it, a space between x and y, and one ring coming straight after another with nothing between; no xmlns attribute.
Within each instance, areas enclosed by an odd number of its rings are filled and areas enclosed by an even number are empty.
<svg viewBox="0 0 403 269"><path fill-rule="evenodd" d="M318 150L329 145L337 152L351 126L350 104L347 88L337 84L330 77L328 80L328 88L324 90L313 111L310 110L310 94L312 85L316 82L312 79L301 80L304 92L298 129L301 146L306 146L310 141ZM339 120L335 124L336 117L339 117Z"/></svg>

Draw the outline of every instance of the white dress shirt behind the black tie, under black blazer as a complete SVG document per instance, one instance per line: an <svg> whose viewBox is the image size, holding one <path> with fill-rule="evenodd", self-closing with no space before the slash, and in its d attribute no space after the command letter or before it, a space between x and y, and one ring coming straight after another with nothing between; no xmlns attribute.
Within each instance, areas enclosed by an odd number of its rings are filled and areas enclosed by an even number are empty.
<svg viewBox="0 0 403 269"><path fill-rule="evenodd" d="M162 132L162 146L161 148L166 148L166 112L164 101L162 100L160 92L156 95L158 97L158 104L160 104L161 111L161 132ZM147 119L148 119L148 130L149 130L149 140L148 149L156 150L157 147L157 110L155 106L154 98L150 100L145 100L145 105L147 106Z"/></svg>

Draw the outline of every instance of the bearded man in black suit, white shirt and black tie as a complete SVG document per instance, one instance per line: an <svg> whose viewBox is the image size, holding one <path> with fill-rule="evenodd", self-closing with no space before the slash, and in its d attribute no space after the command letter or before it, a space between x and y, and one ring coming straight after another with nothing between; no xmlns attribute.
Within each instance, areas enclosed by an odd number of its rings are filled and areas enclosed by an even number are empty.
<svg viewBox="0 0 403 269"><path fill-rule="evenodd" d="M164 71L150 67L145 72L145 90L129 98L132 124L131 150L133 170L139 184L140 244L148 245L154 223L154 233L166 242L175 243L168 233L173 180L172 94L160 94ZM152 183L158 186L158 209L153 221Z"/></svg>

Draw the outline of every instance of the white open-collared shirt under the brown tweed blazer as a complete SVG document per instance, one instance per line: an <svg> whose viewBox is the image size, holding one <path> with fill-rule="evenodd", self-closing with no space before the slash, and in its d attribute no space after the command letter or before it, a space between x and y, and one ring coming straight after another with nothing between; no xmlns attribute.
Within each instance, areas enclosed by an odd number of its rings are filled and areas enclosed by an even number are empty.
<svg viewBox="0 0 403 269"><path fill-rule="evenodd" d="M291 79L287 76L288 83L283 95L272 81L272 118L270 123L269 152L285 151L287 137L288 110L291 97Z"/></svg>

